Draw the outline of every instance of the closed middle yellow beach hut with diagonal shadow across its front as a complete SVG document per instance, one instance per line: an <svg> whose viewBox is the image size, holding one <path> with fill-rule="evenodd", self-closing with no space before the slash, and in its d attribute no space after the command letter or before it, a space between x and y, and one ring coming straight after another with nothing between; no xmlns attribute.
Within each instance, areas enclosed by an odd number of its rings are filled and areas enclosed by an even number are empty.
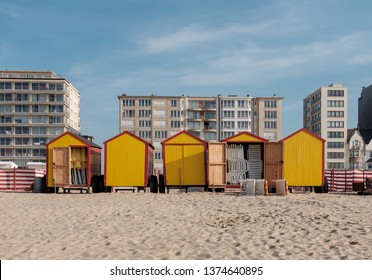
<svg viewBox="0 0 372 280"><path fill-rule="evenodd" d="M207 185L207 142L181 131L162 142L165 186L187 188Z"/></svg>

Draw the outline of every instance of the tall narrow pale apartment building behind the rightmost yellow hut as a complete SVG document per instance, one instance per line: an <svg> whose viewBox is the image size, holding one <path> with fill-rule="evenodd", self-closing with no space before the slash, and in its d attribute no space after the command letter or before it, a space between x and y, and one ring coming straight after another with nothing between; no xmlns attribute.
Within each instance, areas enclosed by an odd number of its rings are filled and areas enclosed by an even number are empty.
<svg viewBox="0 0 372 280"><path fill-rule="evenodd" d="M326 140L326 169L348 168L346 87L334 83L308 95L303 100L303 126Z"/></svg>

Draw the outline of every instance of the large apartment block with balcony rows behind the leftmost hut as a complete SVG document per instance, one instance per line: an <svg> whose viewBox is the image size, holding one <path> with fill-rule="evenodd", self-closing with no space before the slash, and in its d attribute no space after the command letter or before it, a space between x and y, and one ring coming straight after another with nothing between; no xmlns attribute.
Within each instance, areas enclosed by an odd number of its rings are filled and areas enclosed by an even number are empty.
<svg viewBox="0 0 372 280"><path fill-rule="evenodd" d="M45 162L45 143L80 134L80 93L52 71L0 71L0 160Z"/></svg>

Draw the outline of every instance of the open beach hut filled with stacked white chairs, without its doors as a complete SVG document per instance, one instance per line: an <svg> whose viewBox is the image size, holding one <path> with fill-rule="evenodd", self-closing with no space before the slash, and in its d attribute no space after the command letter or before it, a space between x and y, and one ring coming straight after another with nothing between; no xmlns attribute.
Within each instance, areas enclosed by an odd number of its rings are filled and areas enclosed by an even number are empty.
<svg viewBox="0 0 372 280"><path fill-rule="evenodd" d="M227 143L228 184L264 178L264 147L268 141L245 131L222 140Z"/></svg>

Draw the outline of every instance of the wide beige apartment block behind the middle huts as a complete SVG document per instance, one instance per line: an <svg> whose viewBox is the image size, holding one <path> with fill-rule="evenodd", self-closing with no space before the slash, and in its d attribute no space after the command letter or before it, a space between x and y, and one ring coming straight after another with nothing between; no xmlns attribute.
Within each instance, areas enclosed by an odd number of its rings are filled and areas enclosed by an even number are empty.
<svg viewBox="0 0 372 280"><path fill-rule="evenodd" d="M181 130L205 141L220 141L242 131L254 133L254 128L260 137L273 141L281 138L282 97L123 94L118 99L120 132L130 131L152 143L154 166L160 171L163 168L161 142ZM265 125L266 122L275 122L275 125Z"/></svg>

